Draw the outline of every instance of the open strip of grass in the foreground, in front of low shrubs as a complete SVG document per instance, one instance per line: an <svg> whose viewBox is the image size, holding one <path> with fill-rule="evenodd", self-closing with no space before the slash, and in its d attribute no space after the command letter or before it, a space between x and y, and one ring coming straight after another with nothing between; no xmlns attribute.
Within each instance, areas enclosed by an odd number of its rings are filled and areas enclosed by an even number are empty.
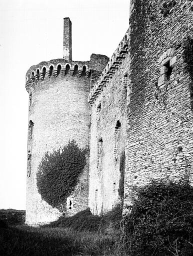
<svg viewBox="0 0 193 256"><path fill-rule="evenodd" d="M126 255L121 237L64 227L0 228L0 255Z"/></svg>

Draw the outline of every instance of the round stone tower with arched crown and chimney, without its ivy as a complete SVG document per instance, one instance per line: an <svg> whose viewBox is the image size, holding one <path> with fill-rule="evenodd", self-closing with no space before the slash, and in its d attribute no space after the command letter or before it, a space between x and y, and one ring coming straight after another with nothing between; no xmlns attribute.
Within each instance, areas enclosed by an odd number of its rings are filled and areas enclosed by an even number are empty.
<svg viewBox="0 0 193 256"><path fill-rule="evenodd" d="M72 61L71 56L71 21L64 18L63 58L40 62L26 72L29 116L25 222L29 225L48 223L61 215L37 191L36 172L44 153L71 139L81 148L89 146L88 94L108 58L92 54L89 61L82 62ZM88 164L67 198L67 213L75 214L87 205Z"/></svg>

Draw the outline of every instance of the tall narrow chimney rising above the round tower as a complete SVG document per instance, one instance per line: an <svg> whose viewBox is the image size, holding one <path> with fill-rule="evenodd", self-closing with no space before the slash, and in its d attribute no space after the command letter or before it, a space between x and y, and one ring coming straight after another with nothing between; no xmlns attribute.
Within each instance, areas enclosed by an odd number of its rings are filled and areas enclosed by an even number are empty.
<svg viewBox="0 0 193 256"><path fill-rule="evenodd" d="M63 58L71 60L71 21L63 18Z"/></svg>

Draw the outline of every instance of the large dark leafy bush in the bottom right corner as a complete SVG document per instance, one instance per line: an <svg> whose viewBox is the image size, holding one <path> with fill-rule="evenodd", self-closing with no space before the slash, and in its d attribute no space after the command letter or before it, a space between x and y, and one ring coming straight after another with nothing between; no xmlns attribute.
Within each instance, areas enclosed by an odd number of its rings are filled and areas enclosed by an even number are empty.
<svg viewBox="0 0 193 256"><path fill-rule="evenodd" d="M130 255L192 255L193 187L188 181L152 180L136 192L124 218Z"/></svg>

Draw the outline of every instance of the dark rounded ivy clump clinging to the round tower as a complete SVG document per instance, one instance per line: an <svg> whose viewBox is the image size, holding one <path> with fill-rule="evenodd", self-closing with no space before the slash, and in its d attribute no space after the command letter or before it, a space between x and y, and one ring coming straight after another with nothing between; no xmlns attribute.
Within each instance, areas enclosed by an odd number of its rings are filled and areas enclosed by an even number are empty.
<svg viewBox="0 0 193 256"><path fill-rule="evenodd" d="M41 198L63 211L66 198L74 190L83 170L86 149L80 149L72 140L67 145L42 157L36 173L37 189Z"/></svg>

